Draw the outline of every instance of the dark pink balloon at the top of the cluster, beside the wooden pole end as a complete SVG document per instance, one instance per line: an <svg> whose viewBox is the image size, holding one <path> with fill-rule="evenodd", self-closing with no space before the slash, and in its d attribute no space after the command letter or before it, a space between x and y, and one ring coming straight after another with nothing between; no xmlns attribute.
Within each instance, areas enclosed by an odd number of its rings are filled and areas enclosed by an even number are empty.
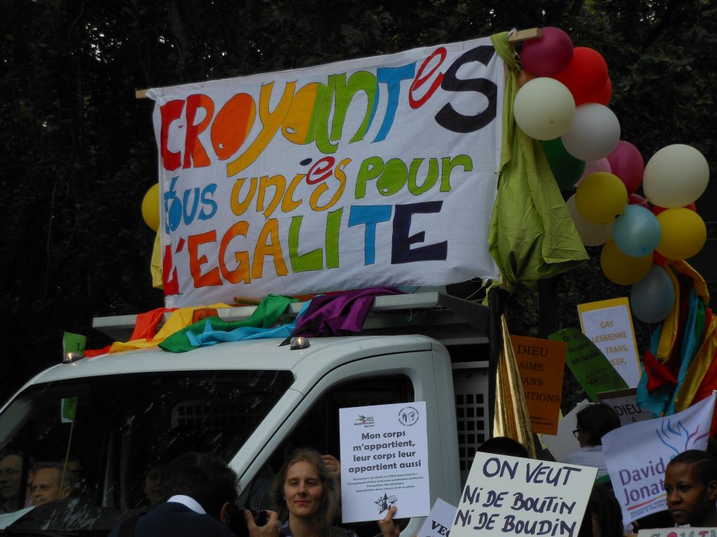
<svg viewBox="0 0 717 537"><path fill-rule="evenodd" d="M536 77L554 77L562 72L573 58L573 42L559 28L546 26L541 37L523 43L521 63Z"/></svg>

